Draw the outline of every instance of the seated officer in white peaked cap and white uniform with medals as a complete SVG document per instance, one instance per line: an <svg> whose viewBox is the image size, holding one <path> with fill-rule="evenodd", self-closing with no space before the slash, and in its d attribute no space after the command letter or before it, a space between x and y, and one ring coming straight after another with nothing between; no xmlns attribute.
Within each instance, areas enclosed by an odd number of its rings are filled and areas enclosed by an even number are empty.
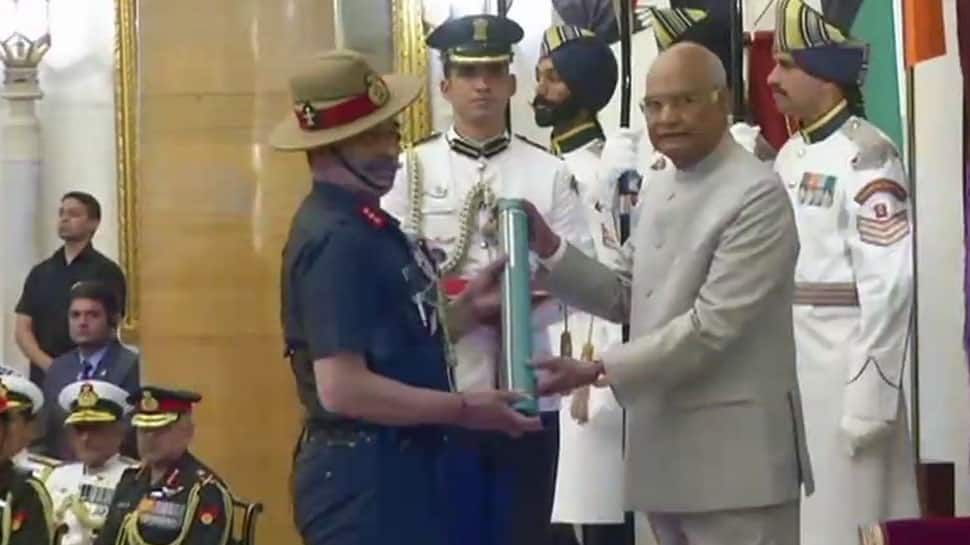
<svg viewBox="0 0 970 545"><path fill-rule="evenodd" d="M78 462L55 468L44 483L54 520L68 527L60 545L91 545L104 525L122 473L137 464L118 454L128 425L128 392L100 380L68 384L58 396Z"/></svg>

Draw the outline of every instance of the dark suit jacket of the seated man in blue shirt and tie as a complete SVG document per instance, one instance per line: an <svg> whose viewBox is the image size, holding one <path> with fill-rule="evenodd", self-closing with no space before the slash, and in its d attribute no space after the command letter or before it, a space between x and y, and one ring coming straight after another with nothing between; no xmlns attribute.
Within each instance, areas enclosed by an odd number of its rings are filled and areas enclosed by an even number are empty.
<svg viewBox="0 0 970 545"><path fill-rule="evenodd" d="M44 378L44 433L41 450L44 454L61 460L74 460L75 456L67 442L64 431L66 415L57 403L57 397L65 386L77 381L80 372L81 358L78 349L75 348L54 358ZM141 383L141 363L138 354L117 340L112 341L98 364L94 378L134 393ZM137 452L132 450L134 450L133 437L126 439L122 446L122 453L127 456L137 456Z"/></svg>

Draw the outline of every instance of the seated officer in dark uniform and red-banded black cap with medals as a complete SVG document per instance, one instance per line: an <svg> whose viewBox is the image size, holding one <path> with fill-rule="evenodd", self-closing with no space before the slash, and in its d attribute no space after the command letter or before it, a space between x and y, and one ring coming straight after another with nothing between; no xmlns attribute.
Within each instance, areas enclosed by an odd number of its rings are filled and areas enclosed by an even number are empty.
<svg viewBox="0 0 970 545"><path fill-rule="evenodd" d="M145 386L128 397L142 465L121 476L98 545L225 545L232 495L189 453L194 392Z"/></svg>

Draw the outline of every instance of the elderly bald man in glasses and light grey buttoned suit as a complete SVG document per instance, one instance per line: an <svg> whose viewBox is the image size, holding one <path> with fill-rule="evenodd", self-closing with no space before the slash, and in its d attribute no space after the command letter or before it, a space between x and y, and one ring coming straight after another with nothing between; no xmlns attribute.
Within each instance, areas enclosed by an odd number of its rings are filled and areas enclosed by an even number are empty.
<svg viewBox="0 0 970 545"><path fill-rule="evenodd" d="M651 67L647 129L676 169L642 193L629 270L585 257L530 211L552 293L631 325L592 364L535 365L542 393L613 388L627 410L627 505L661 545L791 545L801 486L812 489L792 334L798 237L771 167L728 132L725 84L695 44Z"/></svg>

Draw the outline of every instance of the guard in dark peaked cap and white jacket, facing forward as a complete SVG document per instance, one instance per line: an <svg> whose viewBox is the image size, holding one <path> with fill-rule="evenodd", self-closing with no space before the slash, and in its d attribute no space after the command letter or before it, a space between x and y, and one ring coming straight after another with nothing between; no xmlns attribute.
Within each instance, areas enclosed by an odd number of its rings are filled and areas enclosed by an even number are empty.
<svg viewBox="0 0 970 545"><path fill-rule="evenodd" d="M384 207L405 232L428 239L448 295L499 255L496 203L527 198L554 228L592 253L575 182L565 163L542 146L512 136L506 107L515 93L509 72L512 45L522 39L514 21L472 15L448 21L427 43L441 54L442 94L454 124L407 150ZM546 329L560 321L559 305L533 311L533 350L558 351ZM555 343L558 344L558 343ZM498 327L482 326L455 344L461 391L495 387L501 352ZM474 437L446 455L452 493L454 545L537 545L549 538L559 400L540 400L543 431L521 439ZM467 448L466 448L467 447Z"/></svg>

